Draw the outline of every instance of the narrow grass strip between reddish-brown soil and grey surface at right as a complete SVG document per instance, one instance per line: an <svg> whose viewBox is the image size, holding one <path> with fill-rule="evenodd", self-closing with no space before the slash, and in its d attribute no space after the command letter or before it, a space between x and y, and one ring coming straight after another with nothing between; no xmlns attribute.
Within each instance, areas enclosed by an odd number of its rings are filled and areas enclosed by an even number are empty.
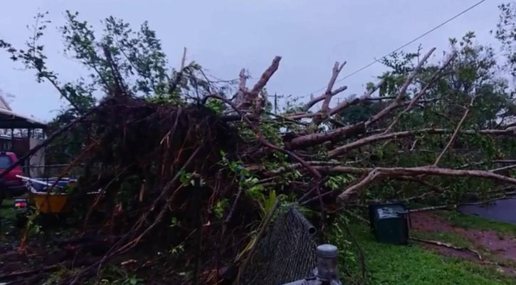
<svg viewBox="0 0 516 285"><path fill-rule="evenodd" d="M472 214L462 214L456 211L436 211L438 217L446 219L454 227L464 229L493 230L500 234L516 237L516 225L497 222L492 219L483 219Z"/></svg>

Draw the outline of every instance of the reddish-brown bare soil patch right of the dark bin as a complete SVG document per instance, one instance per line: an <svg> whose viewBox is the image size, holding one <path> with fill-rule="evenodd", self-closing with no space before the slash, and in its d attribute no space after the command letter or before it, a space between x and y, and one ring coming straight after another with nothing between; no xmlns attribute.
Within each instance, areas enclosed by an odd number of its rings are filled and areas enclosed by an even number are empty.
<svg viewBox="0 0 516 285"><path fill-rule="evenodd" d="M443 255L450 257L458 257L468 259L479 264L498 264L498 268L508 274L515 274L516 270L512 266L500 266L507 264L507 261L513 263L516 261L516 238L503 237L499 233L492 230L464 229L461 227L453 227L451 224L441 217L436 217L429 212L416 212L411 214L412 229L421 232L452 232L467 239L473 244L472 249L481 249L490 253L489 260L478 259L473 252L460 251L448 247L439 247L436 245L425 244L428 249L435 250Z"/></svg>

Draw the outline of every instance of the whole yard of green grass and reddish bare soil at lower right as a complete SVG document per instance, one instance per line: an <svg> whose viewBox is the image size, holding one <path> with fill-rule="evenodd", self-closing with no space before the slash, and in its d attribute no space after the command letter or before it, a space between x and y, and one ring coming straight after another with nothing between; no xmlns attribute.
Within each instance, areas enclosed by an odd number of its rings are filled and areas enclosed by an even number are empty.
<svg viewBox="0 0 516 285"><path fill-rule="evenodd" d="M343 228L340 222L332 242L342 251L344 278L356 283L361 279L359 254ZM374 239L369 225L358 221L351 220L349 229L364 252L367 284L516 284L516 257L512 255L516 226L512 224L448 211L414 215L412 237L469 247L480 252L482 260L468 252L414 241L408 246L382 244Z"/></svg>

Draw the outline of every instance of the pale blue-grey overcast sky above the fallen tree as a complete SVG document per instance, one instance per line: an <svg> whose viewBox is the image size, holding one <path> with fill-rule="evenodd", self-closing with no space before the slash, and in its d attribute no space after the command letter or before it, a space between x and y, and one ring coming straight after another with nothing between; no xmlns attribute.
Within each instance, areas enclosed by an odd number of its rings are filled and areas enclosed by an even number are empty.
<svg viewBox="0 0 516 285"><path fill-rule="evenodd" d="M347 61L342 75L357 70L411 39L441 24L478 0L235 0L235 1L128 1L128 0L19 0L2 1L0 38L21 46L30 36L38 11L48 11L53 21L46 43L49 65L62 81L83 74L76 63L63 57L56 26L63 24L66 9L79 11L81 19L98 26L116 16L135 28L148 20L162 39L173 66L179 66L182 48L211 75L231 79L241 68L254 78L274 56L282 56L279 70L269 81L270 94L307 95L327 84L335 61ZM435 61L448 46L448 38L475 31L480 43L497 46L489 31L498 19L497 5L488 0L420 41L426 51L438 48ZM362 93L384 68L377 63L339 83L349 89L342 98ZM251 82L252 83L252 82ZM38 84L31 71L0 53L0 89L14 94L11 107L24 115L51 120L63 101L48 83ZM307 98L305 99L307 100Z"/></svg>

